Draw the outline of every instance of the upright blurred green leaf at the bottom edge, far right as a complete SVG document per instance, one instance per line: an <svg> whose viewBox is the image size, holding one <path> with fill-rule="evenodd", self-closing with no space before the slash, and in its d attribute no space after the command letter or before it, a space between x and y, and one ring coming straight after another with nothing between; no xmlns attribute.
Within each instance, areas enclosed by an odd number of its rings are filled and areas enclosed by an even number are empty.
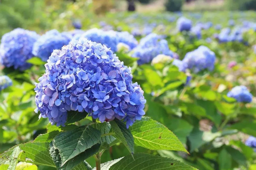
<svg viewBox="0 0 256 170"><path fill-rule="evenodd" d="M218 156L219 170L232 170L232 156L222 149Z"/></svg>

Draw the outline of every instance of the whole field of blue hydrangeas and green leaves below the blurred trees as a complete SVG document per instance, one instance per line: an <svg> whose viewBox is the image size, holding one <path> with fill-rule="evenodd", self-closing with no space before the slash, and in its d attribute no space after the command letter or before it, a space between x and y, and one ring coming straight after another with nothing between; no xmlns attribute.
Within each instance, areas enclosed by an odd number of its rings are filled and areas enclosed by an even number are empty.
<svg viewBox="0 0 256 170"><path fill-rule="evenodd" d="M256 12L81 14L1 37L0 170L256 170Z"/></svg>

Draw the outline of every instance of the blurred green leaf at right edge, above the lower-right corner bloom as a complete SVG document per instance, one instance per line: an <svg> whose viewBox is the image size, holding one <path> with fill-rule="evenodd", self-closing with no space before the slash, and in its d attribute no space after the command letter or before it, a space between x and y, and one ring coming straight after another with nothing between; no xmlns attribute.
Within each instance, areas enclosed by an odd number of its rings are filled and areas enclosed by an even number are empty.
<svg viewBox="0 0 256 170"><path fill-rule="evenodd" d="M247 133L251 136L256 136L256 121L244 119L241 122L237 122L233 125L231 125L230 129L237 129L241 132Z"/></svg>

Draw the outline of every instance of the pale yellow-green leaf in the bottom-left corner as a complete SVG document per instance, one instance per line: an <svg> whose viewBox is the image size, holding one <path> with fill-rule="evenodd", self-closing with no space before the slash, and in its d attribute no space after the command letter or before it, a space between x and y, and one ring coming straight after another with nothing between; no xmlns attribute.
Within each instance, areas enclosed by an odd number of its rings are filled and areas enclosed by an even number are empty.
<svg viewBox="0 0 256 170"><path fill-rule="evenodd" d="M20 159L20 155L22 153L22 150L20 147L13 147L6 153L1 154L0 158L0 164L7 164L8 168L7 170L15 170L15 167ZM2 167L6 168L6 166Z"/></svg>

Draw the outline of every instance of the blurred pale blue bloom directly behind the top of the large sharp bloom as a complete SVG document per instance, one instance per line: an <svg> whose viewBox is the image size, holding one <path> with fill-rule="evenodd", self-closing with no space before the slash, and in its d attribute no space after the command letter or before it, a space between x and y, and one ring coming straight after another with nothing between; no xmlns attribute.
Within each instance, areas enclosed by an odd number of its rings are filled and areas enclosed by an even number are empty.
<svg viewBox="0 0 256 170"><path fill-rule="evenodd" d="M117 51L118 36L116 35L116 31L103 31L101 29L93 28L86 31L81 37L104 44L108 48L111 48L113 52Z"/></svg>

